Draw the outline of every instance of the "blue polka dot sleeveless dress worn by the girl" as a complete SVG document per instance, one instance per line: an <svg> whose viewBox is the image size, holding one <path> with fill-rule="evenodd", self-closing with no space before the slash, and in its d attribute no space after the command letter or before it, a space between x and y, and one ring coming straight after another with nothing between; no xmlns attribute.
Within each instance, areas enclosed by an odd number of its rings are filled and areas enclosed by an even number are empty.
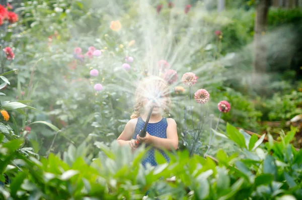
<svg viewBox="0 0 302 200"><path fill-rule="evenodd" d="M140 130L143 129L144 123L145 122L142 120L141 117L137 118L133 139L136 139L136 135L139 134ZM148 123L146 131L152 136L167 138L167 127L168 127L167 119L163 117L162 120L159 122ZM146 144L146 147L147 146L148 144ZM155 149L157 148L152 147L150 150L147 151L146 156L142 160L142 165L144 167L146 166L146 163L150 163L152 166L157 165L157 162L155 160ZM167 162L170 161L168 155L163 150L161 149L157 149L157 150L166 158Z"/></svg>

